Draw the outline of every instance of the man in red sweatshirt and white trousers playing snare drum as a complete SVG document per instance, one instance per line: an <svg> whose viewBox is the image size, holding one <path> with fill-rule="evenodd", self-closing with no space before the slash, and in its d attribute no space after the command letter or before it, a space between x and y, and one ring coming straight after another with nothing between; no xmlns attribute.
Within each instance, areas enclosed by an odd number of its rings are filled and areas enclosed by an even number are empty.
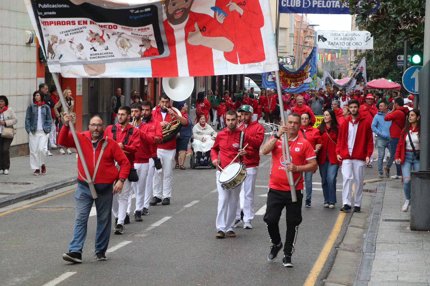
<svg viewBox="0 0 430 286"><path fill-rule="evenodd" d="M240 148L240 137L242 131L237 129L237 113L234 110L229 110L226 113L227 129L218 132L215 139L215 144L211 148L212 164L215 167L224 168L236 157L237 154L251 159L255 156L255 152L251 146L246 149ZM248 135L244 134L243 146L249 142ZM218 180L221 174L221 169L216 172L216 184L218 188L218 214L216 217L216 238L223 238L225 235L235 237L233 232L234 218L236 217L237 202L239 200L240 187L233 190L224 190Z"/></svg>

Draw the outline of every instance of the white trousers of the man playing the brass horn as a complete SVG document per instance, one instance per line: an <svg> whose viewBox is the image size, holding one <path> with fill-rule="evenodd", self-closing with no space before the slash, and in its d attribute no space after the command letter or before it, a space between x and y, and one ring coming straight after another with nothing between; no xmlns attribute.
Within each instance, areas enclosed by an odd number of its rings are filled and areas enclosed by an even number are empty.
<svg viewBox="0 0 430 286"><path fill-rule="evenodd" d="M159 199L172 197L173 184L173 158L175 158L176 150L157 149L157 157L161 159L163 168L155 170L154 181L152 183L154 197ZM161 193L161 172L163 175L163 194Z"/></svg>

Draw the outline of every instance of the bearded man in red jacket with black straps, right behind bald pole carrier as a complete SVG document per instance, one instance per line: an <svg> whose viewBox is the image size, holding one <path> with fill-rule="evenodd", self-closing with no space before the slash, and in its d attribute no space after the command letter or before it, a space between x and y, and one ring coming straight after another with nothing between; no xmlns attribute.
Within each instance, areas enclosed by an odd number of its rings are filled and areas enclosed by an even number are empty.
<svg viewBox="0 0 430 286"><path fill-rule="evenodd" d="M131 168L134 168L135 153L140 148L140 132L129 124L131 109L124 105L118 108L118 123L106 127L106 135L117 141L118 145L126 153ZM112 212L114 213L115 227L114 233L122 235L124 233L124 223L130 223L127 208L129 197L132 196L132 182L127 178L124 182L123 191L114 197ZM127 217L127 218L126 218Z"/></svg>

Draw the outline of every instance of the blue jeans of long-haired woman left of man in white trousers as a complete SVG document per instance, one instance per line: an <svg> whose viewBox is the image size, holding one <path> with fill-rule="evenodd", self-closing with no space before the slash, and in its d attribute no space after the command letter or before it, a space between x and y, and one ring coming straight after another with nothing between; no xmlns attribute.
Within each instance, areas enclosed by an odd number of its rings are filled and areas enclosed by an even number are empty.
<svg viewBox="0 0 430 286"><path fill-rule="evenodd" d="M326 157L324 164L318 164L319 175L321 176L322 194L324 203L337 203L336 200L336 183L338 182L339 164L331 164L329 157Z"/></svg>

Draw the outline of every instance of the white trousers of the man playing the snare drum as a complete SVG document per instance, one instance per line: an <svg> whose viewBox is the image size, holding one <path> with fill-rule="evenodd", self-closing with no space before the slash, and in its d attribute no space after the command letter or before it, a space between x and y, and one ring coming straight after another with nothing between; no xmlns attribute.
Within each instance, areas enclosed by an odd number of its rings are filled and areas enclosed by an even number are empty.
<svg viewBox="0 0 430 286"><path fill-rule="evenodd" d="M239 201L240 187L224 190L218 181L220 171L216 172L216 187L218 189L218 214L216 216L216 231L228 232L233 230L236 217L237 201Z"/></svg>

